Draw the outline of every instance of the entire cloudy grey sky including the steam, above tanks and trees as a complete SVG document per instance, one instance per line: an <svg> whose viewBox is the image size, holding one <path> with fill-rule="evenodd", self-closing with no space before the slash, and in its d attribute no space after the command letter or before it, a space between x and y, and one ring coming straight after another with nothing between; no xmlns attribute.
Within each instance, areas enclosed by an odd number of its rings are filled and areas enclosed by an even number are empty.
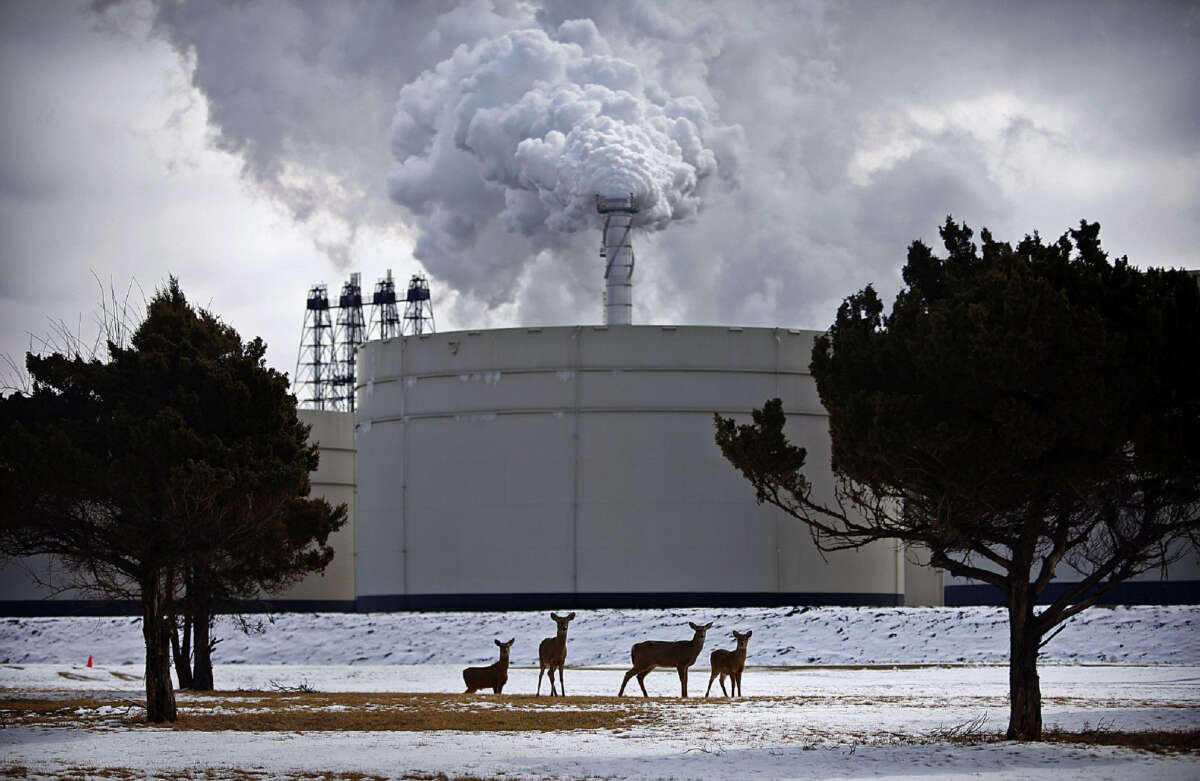
<svg viewBox="0 0 1200 781"><path fill-rule="evenodd" d="M350 271L599 323L598 188L635 323L823 329L947 214L1195 269L1198 74L1187 1L4 1L0 354L169 274L289 373Z"/></svg>

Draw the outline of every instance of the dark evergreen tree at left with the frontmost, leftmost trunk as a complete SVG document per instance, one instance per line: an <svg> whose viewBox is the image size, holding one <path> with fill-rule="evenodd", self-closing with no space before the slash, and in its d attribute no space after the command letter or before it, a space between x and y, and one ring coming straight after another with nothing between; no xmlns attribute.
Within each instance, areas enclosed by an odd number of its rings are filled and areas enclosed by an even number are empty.
<svg viewBox="0 0 1200 781"><path fill-rule="evenodd" d="M344 506L305 498L317 452L264 349L172 278L130 347L29 355L31 391L0 399L0 552L55 555L71 585L140 602L151 722L176 715L181 576L278 587L323 569L344 522Z"/></svg>

